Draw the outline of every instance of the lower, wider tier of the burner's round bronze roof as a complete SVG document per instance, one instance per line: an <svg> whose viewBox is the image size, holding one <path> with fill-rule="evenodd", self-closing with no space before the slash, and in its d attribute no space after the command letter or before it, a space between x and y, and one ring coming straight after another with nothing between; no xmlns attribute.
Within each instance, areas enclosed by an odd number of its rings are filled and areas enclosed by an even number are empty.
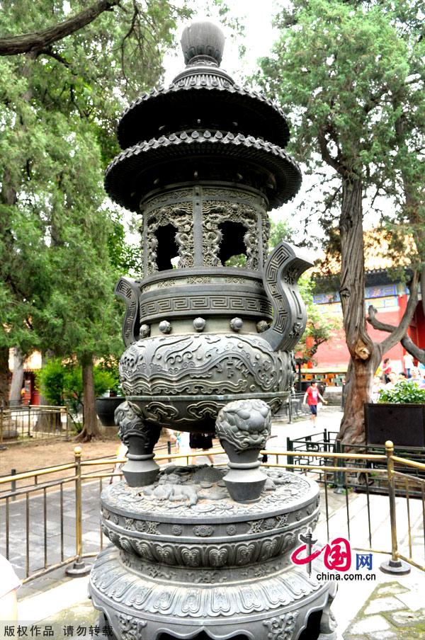
<svg viewBox="0 0 425 640"><path fill-rule="evenodd" d="M222 180L261 186L271 207L293 198L301 185L297 163L276 144L205 130L172 133L125 149L108 166L105 188L119 205L137 211L143 195L166 185L168 174L181 183L193 182L194 173L208 181L217 172Z"/></svg>

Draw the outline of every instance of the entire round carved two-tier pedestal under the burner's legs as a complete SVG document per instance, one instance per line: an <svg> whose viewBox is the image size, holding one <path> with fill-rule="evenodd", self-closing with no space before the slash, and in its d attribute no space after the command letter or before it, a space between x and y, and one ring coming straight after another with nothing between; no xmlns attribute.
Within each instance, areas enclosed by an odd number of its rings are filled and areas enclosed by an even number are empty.
<svg viewBox="0 0 425 640"><path fill-rule="evenodd" d="M313 612L309 640L333 640L329 585L315 578L322 566L309 577L289 559L317 522L317 484L268 470L259 501L242 504L225 473L169 467L152 486L103 491L103 532L115 546L91 572L94 606L118 640L296 640Z"/></svg>

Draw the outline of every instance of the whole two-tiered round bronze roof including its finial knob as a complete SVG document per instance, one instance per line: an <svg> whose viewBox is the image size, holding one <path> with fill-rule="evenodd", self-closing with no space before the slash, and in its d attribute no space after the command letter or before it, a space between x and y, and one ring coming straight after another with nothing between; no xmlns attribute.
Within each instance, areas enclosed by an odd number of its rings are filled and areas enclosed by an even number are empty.
<svg viewBox="0 0 425 640"><path fill-rule="evenodd" d="M137 211L153 190L197 181L249 185L271 208L297 193L301 172L284 151L283 111L220 69L223 46L219 28L193 23L182 36L186 69L125 110L118 125L124 151L106 170L115 202Z"/></svg>

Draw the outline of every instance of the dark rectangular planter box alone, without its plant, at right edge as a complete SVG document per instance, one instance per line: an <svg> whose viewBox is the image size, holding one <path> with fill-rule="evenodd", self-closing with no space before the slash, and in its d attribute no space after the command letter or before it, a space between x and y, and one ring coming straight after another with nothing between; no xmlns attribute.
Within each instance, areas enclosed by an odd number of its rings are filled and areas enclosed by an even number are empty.
<svg viewBox="0 0 425 640"><path fill-rule="evenodd" d="M366 444L425 447L425 404L365 403Z"/></svg>

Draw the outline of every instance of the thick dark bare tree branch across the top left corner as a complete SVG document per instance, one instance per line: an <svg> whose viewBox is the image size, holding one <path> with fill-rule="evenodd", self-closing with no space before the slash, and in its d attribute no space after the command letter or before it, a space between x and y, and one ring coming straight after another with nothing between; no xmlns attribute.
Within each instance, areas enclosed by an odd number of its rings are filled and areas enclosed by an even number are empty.
<svg viewBox="0 0 425 640"><path fill-rule="evenodd" d="M0 38L0 55L17 55L45 49L53 42L62 40L93 22L103 11L111 11L118 4L120 0L98 0L96 4L83 9L76 16L42 31Z"/></svg>

